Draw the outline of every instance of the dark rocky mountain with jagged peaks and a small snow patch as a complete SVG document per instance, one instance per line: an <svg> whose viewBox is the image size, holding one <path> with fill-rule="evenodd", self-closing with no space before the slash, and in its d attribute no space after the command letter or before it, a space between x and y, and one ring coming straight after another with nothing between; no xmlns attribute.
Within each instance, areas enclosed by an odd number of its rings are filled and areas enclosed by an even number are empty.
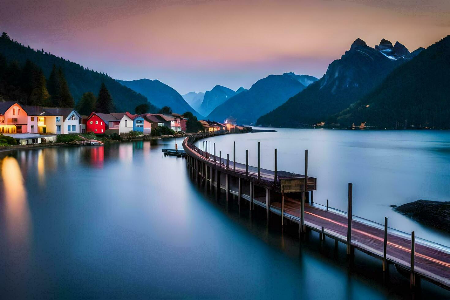
<svg viewBox="0 0 450 300"><path fill-rule="evenodd" d="M309 127L325 121L328 116L369 93L393 69L411 60L411 54L400 43L394 49L390 41L383 39L375 48L356 39L340 59L330 63L324 77L274 111L261 116L257 124Z"/></svg>

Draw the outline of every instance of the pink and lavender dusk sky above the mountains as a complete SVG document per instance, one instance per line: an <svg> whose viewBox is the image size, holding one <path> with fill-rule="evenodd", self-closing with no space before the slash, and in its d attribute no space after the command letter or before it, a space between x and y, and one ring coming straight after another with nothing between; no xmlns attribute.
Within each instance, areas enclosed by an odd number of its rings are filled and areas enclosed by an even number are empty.
<svg viewBox="0 0 450 300"><path fill-rule="evenodd" d="M450 1L379 2L4 0L0 31L113 78L158 79L181 94L249 88L283 72L321 77L358 37L413 51L450 32Z"/></svg>

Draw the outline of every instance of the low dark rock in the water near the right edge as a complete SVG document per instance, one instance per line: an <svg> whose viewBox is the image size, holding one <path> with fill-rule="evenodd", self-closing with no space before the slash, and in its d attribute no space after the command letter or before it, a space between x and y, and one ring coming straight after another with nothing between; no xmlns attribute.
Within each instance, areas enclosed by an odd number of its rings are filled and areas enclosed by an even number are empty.
<svg viewBox="0 0 450 300"><path fill-rule="evenodd" d="M422 224L450 233L450 201L418 200L397 206L394 210Z"/></svg>

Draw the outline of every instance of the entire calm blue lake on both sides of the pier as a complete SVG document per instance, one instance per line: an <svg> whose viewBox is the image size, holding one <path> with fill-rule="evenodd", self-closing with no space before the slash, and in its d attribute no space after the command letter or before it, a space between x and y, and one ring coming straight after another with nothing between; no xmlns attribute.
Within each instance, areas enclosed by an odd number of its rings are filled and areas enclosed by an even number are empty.
<svg viewBox="0 0 450 300"><path fill-rule="evenodd" d="M315 201L449 244L449 236L392 211L418 199L449 201L450 132L288 130L209 139L216 151L318 178ZM181 147L182 140L177 140ZM0 152L0 291L6 298L403 298L409 279L311 233L266 226L265 211L229 205L164 157L175 141ZM278 222L277 222L278 223ZM422 282L422 293L449 292Z"/></svg>

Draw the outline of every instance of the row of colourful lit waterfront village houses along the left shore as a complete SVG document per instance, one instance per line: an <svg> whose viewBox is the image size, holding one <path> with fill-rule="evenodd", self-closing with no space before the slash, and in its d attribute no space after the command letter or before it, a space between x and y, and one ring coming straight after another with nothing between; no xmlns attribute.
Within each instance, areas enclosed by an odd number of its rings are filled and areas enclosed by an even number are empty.
<svg viewBox="0 0 450 300"><path fill-rule="evenodd" d="M59 134L96 134L130 136L150 135L159 126L175 134L186 132L188 119L183 115L130 112L92 112L82 116L73 107L40 107L21 105L14 101L0 102L0 146L6 145L5 137L18 145L53 143ZM199 121L207 133L242 132L243 127L230 123ZM152 134L153 135L153 134Z"/></svg>

